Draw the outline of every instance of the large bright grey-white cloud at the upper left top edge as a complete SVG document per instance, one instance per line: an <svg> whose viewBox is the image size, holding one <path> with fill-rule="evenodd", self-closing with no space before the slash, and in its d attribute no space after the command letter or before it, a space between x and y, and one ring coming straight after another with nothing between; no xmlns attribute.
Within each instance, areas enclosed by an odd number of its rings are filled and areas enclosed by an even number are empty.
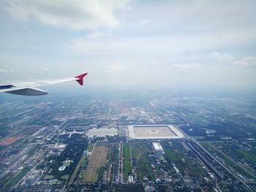
<svg viewBox="0 0 256 192"><path fill-rule="evenodd" d="M72 31L114 27L119 23L115 13L125 10L128 0L11 0L4 6L19 20L38 20L46 26Z"/></svg>

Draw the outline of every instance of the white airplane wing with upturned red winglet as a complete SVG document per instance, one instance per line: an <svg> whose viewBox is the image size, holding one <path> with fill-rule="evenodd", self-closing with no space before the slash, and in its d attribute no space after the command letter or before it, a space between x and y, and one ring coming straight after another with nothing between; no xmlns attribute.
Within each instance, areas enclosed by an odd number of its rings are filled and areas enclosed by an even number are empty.
<svg viewBox="0 0 256 192"><path fill-rule="evenodd" d="M77 81L80 85L83 85L83 77L88 73L80 74L76 77L66 77L61 79L48 79L29 82L15 82L11 84L0 85L0 92L12 93L23 96L42 96L47 95L46 91L43 91L37 87L43 85L52 85L60 82Z"/></svg>

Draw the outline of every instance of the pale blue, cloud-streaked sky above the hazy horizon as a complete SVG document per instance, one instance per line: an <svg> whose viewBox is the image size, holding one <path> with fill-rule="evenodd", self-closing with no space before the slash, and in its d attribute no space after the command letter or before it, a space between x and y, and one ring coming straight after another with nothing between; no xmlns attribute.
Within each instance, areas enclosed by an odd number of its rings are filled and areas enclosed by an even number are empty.
<svg viewBox="0 0 256 192"><path fill-rule="evenodd" d="M1 82L256 88L256 1L3 0Z"/></svg>

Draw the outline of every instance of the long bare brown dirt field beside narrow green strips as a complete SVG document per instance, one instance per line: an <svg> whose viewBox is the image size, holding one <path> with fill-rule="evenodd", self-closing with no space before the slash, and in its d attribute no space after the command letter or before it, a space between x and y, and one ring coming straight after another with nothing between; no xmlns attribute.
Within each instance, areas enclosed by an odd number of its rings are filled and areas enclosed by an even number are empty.
<svg viewBox="0 0 256 192"><path fill-rule="evenodd" d="M83 182L95 183L97 182L98 170L100 167L105 166L108 154L108 147L96 145L92 151L89 159L89 164L86 172L83 175Z"/></svg>

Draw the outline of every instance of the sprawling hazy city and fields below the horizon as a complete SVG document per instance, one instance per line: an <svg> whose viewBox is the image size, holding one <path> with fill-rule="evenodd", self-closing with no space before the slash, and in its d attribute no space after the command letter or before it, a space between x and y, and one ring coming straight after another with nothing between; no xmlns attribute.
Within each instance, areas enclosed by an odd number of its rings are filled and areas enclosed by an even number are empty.
<svg viewBox="0 0 256 192"><path fill-rule="evenodd" d="M1 99L1 191L255 191L254 98Z"/></svg>

